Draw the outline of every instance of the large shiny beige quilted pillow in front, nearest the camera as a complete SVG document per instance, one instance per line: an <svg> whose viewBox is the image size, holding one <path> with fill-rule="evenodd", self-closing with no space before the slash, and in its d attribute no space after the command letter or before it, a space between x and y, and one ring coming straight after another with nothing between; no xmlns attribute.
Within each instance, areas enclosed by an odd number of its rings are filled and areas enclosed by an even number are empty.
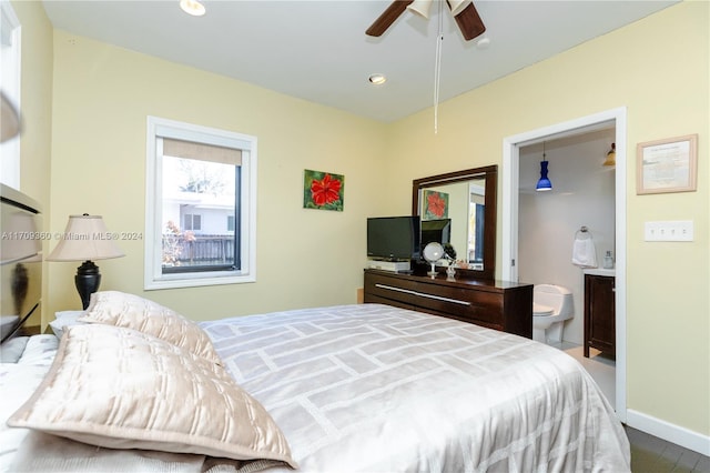
<svg viewBox="0 0 710 473"><path fill-rule="evenodd" d="M8 420L109 449L276 460L296 467L266 410L222 366L130 329L74 325Z"/></svg>

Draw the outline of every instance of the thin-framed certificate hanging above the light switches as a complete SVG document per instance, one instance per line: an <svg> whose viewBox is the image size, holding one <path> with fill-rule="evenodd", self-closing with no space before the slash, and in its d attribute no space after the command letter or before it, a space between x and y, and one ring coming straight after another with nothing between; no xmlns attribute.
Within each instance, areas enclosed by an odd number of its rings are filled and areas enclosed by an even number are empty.
<svg viewBox="0 0 710 473"><path fill-rule="evenodd" d="M697 134L639 143L636 153L637 194L697 190Z"/></svg>

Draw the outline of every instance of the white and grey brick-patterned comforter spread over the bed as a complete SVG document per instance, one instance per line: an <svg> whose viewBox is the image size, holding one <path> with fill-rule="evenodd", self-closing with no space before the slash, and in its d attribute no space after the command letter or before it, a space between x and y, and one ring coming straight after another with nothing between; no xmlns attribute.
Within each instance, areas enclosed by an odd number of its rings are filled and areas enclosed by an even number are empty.
<svg viewBox="0 0 710 473"><path fill-rule="evenodd" d="M531 340L377 304L202 326L301 471L629 471L592 379Z"/></svg>

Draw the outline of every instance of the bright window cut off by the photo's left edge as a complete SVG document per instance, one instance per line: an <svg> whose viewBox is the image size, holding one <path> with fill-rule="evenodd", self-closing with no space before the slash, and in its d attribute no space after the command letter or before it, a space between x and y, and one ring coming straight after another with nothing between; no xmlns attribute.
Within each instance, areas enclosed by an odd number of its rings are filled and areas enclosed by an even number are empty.
<svg viewBox="0 0 710 473"><path fill-rule="evenodd" d="M0 0L0 90L20 108L20 21L8 0ZM0 143L0 181L20 189L20 139Z"/></svg>

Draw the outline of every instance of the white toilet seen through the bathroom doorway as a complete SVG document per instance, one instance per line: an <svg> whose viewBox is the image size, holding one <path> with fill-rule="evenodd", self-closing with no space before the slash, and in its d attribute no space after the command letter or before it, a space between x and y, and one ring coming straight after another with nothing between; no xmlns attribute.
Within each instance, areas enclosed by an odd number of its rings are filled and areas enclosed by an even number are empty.
<svg viewBox="0 0 710 473"><path fill-rule="evenodd" d="M532 288L532 340L560 343L565 321L575 316L572 293L554 284Z"/></svg>

